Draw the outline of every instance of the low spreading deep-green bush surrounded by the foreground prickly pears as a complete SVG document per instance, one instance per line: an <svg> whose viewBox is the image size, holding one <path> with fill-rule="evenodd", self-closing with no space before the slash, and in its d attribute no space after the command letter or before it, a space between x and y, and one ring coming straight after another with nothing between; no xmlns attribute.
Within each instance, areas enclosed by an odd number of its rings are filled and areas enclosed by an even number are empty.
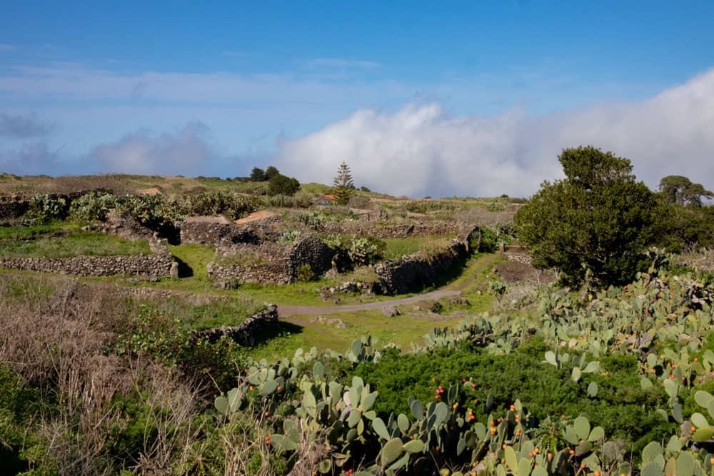
<svg viewBox="0 0 714 476"><path fill-rule="evenodd" d="M538 420L560 419L562 415L574 418L585 413L593 425L603 426L609 437L633 442L635 451L674 430L673 423L664 422L650 410L665 405L667 395L659 387L640 388L636 358L604 358L603 368L612 369L607 376L592 375L575 383L569 372L555 371L543 363L544 352L542 342L535 341L506 355L493 355L468 345L422 354L401 354L392 349L383 353L379 363L358 365L354 375L379 392L374 410L383 419L390 412L409 415L410 395L428 402L434 400L438 385L446 388L466 379L476 384L476 388L468 390L468 401L485 402L491 394L495 408L507 409L520 399ZM600 385L596 399L585 391L591 381ZM486 424L488 415L481 405L473 405L473 410L478 420Z"/></svg>

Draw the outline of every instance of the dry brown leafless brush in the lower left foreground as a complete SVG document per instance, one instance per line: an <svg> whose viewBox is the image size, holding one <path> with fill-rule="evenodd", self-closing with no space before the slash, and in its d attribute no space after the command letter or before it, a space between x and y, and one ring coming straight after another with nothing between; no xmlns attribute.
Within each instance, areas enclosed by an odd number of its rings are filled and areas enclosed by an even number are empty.
<svg viewBox="0 0 714 476"><path fill-rule="evenodd" d="M0 314L0 364L56 402L41 407L32 424L45 442L39 463L61 475L116 472L108 444L127 422L112 400L131 394L154 432L146 432L138 460L127 466L152 475L191 467L201 389L148 360L106 355L129 310L126 298L106 286L3 275L0 306L7 311Z"/></svg>

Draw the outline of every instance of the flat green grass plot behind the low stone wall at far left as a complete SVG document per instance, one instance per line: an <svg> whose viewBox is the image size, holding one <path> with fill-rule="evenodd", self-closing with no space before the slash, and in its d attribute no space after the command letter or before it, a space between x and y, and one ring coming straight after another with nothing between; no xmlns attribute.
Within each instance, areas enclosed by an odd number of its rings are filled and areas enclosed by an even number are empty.
<svg viewBox="0 0 714 476"><path fill-rule="evenodd" d="M26 231L19 231L19 233L26 233ZM62 236L38 235L34 239L25 240L18 238L0 238L0 255L5 258L68 258L82 255L151 254L148 240L124 240L118 236L95 231L69 230Z"/></svg>

